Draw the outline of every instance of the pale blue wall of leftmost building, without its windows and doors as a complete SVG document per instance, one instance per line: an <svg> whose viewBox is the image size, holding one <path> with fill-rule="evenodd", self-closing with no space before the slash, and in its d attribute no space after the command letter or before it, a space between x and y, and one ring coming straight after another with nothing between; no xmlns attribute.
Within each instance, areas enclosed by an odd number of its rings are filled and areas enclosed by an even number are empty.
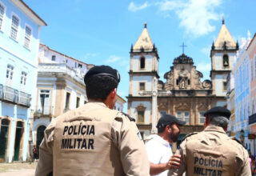
<svg viewBox="0 0 256 176"><path fill-rule="evenodd" d="M18 160L26 161L28 152L28 140L30 129L30 110L34 107L35 87L37 80L38 68L38 46L39 46L39 30L40 26L37 22L31 20L29 16L23 13L20 7L15 6L13 2L8 0L0 0L2 6L5 7L4 18L0 30L0 84L2 86L10 87L12 90L18 90L19 98L20 92L29 94L32 100L29 105L20 106L17 103L2 102L0 106L0 116L9 117L10 133L8 136L8 154L6 162L14 160L14 146L17 134L17 122L22 122L22 138L19 146ZM28 10L28 9L27 9ZM17 38L11 38L12 16L18 18L18 33ZM30 42L25 45L26 26L30 28ZM12 78L6 78L7 66L13 66ZM21 84L22 72L26 73L26 84Z"/></svg>

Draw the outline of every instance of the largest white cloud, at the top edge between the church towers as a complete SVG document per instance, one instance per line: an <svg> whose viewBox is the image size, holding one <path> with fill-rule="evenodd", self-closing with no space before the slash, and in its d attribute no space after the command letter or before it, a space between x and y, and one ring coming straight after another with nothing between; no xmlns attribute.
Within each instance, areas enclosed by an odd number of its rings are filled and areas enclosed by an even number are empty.
<svg viewBox="0 0 256 176"><path fill-rule="evenodd" d="M221 17L221 14L214 12L221 3L222 0L166 0L157 5L164 12L173 10L181 20L179 26L184 27L187 34L199 37L215 30L210 22Z"/></svg>

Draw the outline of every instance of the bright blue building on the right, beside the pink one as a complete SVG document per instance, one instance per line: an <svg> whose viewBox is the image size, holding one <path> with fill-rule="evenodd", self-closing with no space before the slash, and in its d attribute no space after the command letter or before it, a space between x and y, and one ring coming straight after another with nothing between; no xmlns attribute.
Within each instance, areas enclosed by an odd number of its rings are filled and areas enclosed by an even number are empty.
<svg viewBox="0 0 256 176"><path fill-rule="evenodd" d="M250 43L250 37L247 39L243 38L241 43L233 70L235 103L234 134L236 138L244 143L247 150L250 150L252 147L251 141L248 139L248 134L250 134L248 120L250 116L250 59L245 52Z"/></svg>

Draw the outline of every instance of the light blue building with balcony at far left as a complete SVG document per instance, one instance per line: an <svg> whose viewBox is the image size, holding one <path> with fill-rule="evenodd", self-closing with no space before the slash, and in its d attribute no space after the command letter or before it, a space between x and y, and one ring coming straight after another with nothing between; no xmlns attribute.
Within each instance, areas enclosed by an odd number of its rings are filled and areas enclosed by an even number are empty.
<svg viewBox="0 0 256 176"><path fill-rule="evenodd" d="M0 162L27 159L42 26L22 0L0 0Z"/></svg>

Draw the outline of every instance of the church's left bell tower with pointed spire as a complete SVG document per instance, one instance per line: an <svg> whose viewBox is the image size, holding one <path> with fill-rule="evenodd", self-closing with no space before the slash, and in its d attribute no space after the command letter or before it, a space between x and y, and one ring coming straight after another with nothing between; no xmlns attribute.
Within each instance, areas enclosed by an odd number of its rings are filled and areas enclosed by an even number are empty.
<svg viewBox="0 0 256 176"><path fill-rule="evenodd" d="M137 42L130 48L130 85L127 97L128 114L136 119L142 136L149 135L152 127L152 99L159 78L158 59L158 50L151 41L145 23Z"/></svg>

